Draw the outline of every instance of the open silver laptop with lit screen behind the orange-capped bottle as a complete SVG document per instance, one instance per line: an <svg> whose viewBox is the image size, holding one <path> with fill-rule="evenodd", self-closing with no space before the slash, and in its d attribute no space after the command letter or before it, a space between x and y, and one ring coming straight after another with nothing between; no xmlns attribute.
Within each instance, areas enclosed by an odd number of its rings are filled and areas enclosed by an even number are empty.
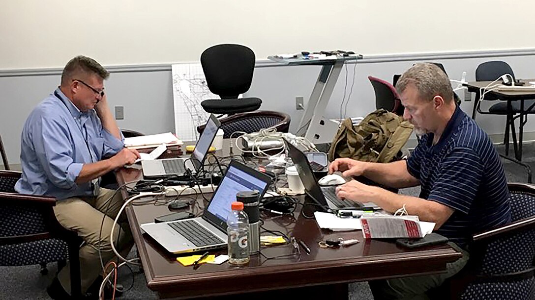
<svg viewBox="0 0 535 300"><path fill-rule="evenodd" d="M270 182L269 176L232 161L202 217L140 227L174 254L223 248L227 244L227 216L236 193L257 190L262 198Z"/></svg>

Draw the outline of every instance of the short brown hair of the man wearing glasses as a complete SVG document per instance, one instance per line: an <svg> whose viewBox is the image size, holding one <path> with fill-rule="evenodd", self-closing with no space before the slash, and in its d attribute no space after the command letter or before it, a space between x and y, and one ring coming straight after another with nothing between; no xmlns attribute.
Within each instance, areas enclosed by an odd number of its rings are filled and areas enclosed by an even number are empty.
<svg viewBox="0 0 535 300"><path fill-rule="evenodd" d="M65 65L62 73L62 85L70 84L73 79L80 79L80 77L85 79L92 75L97 75L106 80L110 77L110 72L94 59L80 55L71 59Z"/></svg>

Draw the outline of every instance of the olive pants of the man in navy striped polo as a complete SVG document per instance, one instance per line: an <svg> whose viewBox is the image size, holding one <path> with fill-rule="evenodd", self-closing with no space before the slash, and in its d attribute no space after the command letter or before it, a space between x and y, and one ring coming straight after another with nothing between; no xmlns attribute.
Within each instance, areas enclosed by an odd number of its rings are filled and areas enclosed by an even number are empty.
<svg viewBox="0 0 535 300"><path fill-rule="evenodd" d="M455 243L449 242L448 244L458 252L462 252L463 257L453 263L446 264L446 273L370 281L368 283L373 299L429 299L425 294L426 291L441 286L446 279L461 271L468 262L469 254L467 251Z"/></svg>

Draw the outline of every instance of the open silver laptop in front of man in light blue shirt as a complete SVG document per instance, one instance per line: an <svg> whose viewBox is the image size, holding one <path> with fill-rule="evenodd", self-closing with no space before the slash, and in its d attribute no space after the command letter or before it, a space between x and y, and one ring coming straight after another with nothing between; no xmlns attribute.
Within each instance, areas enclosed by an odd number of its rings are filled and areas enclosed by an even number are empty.
<svg viewBox="0 0 535 300"><path fill-rule="evenodd" d="M184 176L188 170L196 173L201 168L206 155L216 137L217 130L221 123L214 115L210 115L204 127L201 137L199 137L195 150L189 157L179 157L177 159L145 160L141 161L144 177L162 177L169 175Z"/></svg>

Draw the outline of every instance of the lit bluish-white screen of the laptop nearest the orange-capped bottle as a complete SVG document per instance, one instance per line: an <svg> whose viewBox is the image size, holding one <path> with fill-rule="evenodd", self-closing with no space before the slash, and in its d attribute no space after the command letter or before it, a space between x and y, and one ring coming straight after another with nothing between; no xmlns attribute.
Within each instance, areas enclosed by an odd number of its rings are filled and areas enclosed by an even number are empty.
<svg viewBox="0 0 535 300"><path fill-rule="evenodd" d="M271 179L265 174L232 161L210 201L207 209L208 217L215 216L220 220L219 223L226 224L231 203L236 201L238 192L257 190L263 196L270 181Z"/></svg>

